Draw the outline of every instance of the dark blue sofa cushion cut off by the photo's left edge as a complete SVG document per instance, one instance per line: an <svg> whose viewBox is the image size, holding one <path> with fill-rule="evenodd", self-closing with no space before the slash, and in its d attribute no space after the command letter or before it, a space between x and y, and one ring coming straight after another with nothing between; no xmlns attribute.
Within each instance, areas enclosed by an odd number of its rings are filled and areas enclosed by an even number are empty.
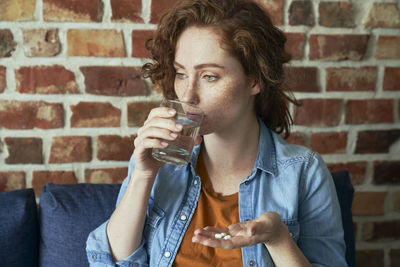
<svg viewBox="0 0 400 267"><path fill-rule="evenodd" d="M38 223L32 189L0 193L0 266L37 266Z"/></svg>

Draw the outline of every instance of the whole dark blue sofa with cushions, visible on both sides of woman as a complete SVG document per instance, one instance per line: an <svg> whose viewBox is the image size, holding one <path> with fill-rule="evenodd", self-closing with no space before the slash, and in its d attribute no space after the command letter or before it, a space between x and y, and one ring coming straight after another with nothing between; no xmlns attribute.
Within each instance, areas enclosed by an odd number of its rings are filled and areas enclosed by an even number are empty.
<svg viewBox="0 0 400 267"><path fill-rule="evenodd" d="M346 260L354 266L354 190L348 172L333 173L333 178L342 210ZM47 184L38 212L32 189L0 193L0 266L88 266L86 238L110 217L119 188L119 184Z"/></svg>

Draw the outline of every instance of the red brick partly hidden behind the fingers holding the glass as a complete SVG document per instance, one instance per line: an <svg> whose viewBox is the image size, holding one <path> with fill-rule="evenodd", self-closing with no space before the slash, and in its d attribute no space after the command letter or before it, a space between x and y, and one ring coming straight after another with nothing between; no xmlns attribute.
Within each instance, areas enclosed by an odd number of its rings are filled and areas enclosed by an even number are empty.
<svg viewBox="0 0 400 267"><path fill-rule="evenodd" d="M150 111L158 106L160 106L159 101L128 103L128 126L141 127Z"/></svg>

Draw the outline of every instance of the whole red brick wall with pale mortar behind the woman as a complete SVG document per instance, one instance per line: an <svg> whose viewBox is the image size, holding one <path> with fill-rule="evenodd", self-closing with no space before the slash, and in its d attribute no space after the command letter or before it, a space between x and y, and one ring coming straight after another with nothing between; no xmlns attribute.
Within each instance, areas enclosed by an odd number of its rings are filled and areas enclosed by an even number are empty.
<svg viewBox="0 0 400 267"><path fill-rule="evenodd" d="M161 95L144 41L176 0L0 0L0 192L119 183ZM347 169L358 266L400 264L400 4L258 0L287 32L290 142Z"/></svg>

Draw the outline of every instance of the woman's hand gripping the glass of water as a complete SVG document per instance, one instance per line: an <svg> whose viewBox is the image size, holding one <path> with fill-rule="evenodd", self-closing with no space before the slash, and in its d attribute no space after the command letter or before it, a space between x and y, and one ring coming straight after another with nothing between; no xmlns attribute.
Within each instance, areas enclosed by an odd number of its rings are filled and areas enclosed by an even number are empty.
<svg viewBox="0 0 400 267"><path fill-rule="evenodd" d="M151 155L153 148L166 148L166 140L176 139L182 125L172 118L176 111L167 107L157 107L150 111L144 125L139 128L135 138L135 176L154 178L164 164ZM138 175L140 174L140 175Z"/></svg>

